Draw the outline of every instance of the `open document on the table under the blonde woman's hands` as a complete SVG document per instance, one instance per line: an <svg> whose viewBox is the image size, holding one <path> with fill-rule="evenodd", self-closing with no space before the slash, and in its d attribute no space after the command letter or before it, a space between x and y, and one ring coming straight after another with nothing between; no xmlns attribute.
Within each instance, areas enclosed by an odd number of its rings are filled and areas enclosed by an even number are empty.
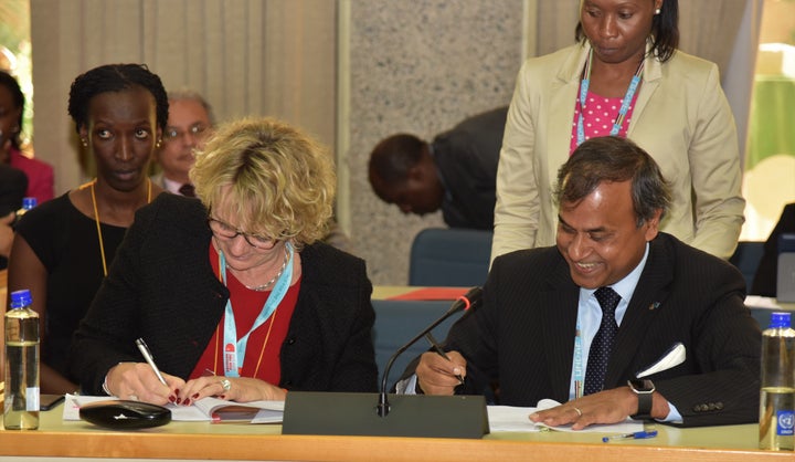
<svg viewBox="0 0 795 462"><path fill-rule="evenodd" d="M81 406L114 399L119 398L66 395L63 419L80 420ZM191 406L169 403L165 407L171 410L172 421L282 423L284 417L284 401L234 402L218 398L202 398Z"/></svg>

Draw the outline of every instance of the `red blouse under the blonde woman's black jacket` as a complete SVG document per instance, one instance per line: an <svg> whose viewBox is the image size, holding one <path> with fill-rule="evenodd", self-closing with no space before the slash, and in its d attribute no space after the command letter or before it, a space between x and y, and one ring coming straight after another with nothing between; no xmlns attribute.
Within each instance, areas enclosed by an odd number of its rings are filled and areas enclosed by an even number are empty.
<svg viewBox="0 0 795 462"><path fill-rule="evenodd" d="M213 245L210 245L210 262L213 271L219 275L219 255ZM219 276L220 277L220 276ZM254 321L271 295L271 291L257 292L246 288L231 273L226 272L226 286L230 290L232 308L234 309L237 335L244 336L254 325ZM257 327L248 337L246 355L243 358L241 377L255 377L272 385L278 385L282 377L279 353L282 344L287 337L290 318L298 301L300 279L293 284L278 307L271 317ZM224 317L215 327L215 333L208 344L199 363L197 363L190 378L208 375L223 376L223 323Z"/></svg>

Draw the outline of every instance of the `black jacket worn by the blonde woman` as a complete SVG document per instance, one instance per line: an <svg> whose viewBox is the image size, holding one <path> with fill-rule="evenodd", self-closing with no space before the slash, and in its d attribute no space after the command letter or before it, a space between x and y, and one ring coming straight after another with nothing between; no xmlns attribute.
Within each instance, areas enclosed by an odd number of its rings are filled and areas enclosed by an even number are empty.
<svg viewBox="0 0 795 462"><path fill-rule="evenodd" d="M204 206L160 195L136 213L72 343L71 370L100 395L107 370L141 361L144 337L163 372L187 378L229 297L209 261ZM364 262L324 243L300 252L301 282L282 344L279 386L290 390L375 391L375 319Z"/></svg>

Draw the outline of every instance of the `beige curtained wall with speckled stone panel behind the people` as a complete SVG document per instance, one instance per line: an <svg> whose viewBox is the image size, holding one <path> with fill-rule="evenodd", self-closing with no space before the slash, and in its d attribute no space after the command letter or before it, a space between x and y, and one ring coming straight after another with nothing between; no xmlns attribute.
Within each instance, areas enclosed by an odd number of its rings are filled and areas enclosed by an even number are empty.
<svg viewBox="0 0 795 462"><path fill-rule="evenodd" d="M31 0L36 156L54 165L57 193L87 180L70 83L99 64L147 63L167 88L206 95L219 119L273 115L329 145L352 252L373 283L403 284L412 238L443 222L375 198L371 148L507 104L526 56L573 41L579 1ZM682 50L719 63L740 133L761 2L680 2Z"/></svg>

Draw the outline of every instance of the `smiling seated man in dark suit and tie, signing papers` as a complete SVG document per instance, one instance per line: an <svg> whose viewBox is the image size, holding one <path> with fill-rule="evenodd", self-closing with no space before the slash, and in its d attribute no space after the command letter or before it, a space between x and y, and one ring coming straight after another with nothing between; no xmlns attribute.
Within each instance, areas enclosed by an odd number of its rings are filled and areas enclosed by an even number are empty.
<svg viewBox="0 0 795 462"><path fill-rule="evenodd" d="M587 140L561 167L555 198L558 245L496 259L483 306L451 328L451 360L426 353L400 386L452 395L498 382L499 403L552 398L564 405L530 419L574 429L627 416L756 421L761 334L743 277L658 231L670 192L651 157L627 139ZM596 300L602 287L621 297L614 322Z"/></svg>

